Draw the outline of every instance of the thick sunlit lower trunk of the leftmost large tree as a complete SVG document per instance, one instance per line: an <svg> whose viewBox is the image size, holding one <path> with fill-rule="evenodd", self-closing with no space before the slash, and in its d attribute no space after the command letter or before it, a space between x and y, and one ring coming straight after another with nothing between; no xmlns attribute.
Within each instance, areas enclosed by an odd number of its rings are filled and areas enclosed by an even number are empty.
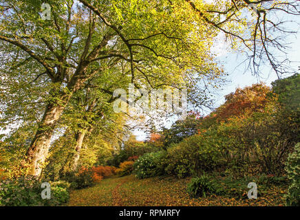
<svg viewBox="0 0 300 220"><path fill-rule="evenodd" d="M47 157L50 141L55 129L55 124L60 118L64 106L58 104L47 104L43 119L38 131L25 155L28 164L28 175L40 176L43 163Z"/></svg>

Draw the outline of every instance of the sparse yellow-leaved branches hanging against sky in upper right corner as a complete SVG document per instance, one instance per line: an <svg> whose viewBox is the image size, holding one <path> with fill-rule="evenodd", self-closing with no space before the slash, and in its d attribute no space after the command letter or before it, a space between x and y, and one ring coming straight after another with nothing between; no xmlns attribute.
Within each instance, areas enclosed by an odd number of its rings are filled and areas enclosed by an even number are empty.
<svg viewBox="0 0 300 220"><path fill-rule="evenodd" d="M299 1L277 0L226 0L214 1L207 7L202 1L184 0L212 29L219 30L231 47L248 56L247 69L259 75L261 66L268 63L277 74L293 73L286 56L290 34L298 26ZM288 19L292 18L292 19Z"/></svg>

